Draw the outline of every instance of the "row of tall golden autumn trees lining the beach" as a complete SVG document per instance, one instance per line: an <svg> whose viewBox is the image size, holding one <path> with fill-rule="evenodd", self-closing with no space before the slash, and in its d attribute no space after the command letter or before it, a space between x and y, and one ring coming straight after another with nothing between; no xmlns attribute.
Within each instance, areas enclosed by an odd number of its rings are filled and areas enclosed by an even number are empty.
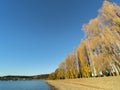
<svg viewBox="0 0 120 90"><path fill-rule="evenodd" d="M83 25L85 39L49 79L120 75L120 7L104 1L99 15Z"/></svg>

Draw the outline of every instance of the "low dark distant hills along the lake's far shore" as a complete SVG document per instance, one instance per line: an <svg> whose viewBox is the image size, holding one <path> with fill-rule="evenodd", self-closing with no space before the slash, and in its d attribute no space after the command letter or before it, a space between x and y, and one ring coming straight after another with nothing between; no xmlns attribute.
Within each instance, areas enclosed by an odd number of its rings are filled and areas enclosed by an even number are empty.
<svg viewBox="0 0 120 90"><path fill-rule="evenodd" d="M47 79L49 74L34 75L34 76L2 76L0 80L39 80Z"/></svg>

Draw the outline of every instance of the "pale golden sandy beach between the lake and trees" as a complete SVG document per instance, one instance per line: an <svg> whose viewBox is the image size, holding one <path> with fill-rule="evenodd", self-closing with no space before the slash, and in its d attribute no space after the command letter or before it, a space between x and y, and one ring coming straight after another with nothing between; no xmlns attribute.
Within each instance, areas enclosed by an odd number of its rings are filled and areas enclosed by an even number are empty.
<svg viewBox="0 0 120 90"><path fill-rule="evenodd" d="M120 90L120 76L47 80L53 90Z"/></svg>

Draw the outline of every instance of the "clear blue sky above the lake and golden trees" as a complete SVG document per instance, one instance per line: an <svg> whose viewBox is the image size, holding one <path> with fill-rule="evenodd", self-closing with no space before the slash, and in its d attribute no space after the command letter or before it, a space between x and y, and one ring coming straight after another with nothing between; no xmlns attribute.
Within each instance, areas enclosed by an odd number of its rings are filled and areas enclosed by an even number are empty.
<svg viewBox="0 0 120 90"><path fill-rule="evenodd" d="M110 0L120 4L120 0ZM53 72L103 0L0 0L0 76Z"/></svg>

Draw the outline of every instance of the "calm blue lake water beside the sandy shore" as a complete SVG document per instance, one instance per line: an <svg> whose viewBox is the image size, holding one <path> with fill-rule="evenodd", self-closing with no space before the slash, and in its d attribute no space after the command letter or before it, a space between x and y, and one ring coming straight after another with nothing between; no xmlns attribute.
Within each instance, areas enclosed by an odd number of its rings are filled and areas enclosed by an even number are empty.
<svg viewBox="0 0 120 90"><path fill-rule="evenodd" d="M0 81L0 90L51 90L43 80Z"/></svg>

